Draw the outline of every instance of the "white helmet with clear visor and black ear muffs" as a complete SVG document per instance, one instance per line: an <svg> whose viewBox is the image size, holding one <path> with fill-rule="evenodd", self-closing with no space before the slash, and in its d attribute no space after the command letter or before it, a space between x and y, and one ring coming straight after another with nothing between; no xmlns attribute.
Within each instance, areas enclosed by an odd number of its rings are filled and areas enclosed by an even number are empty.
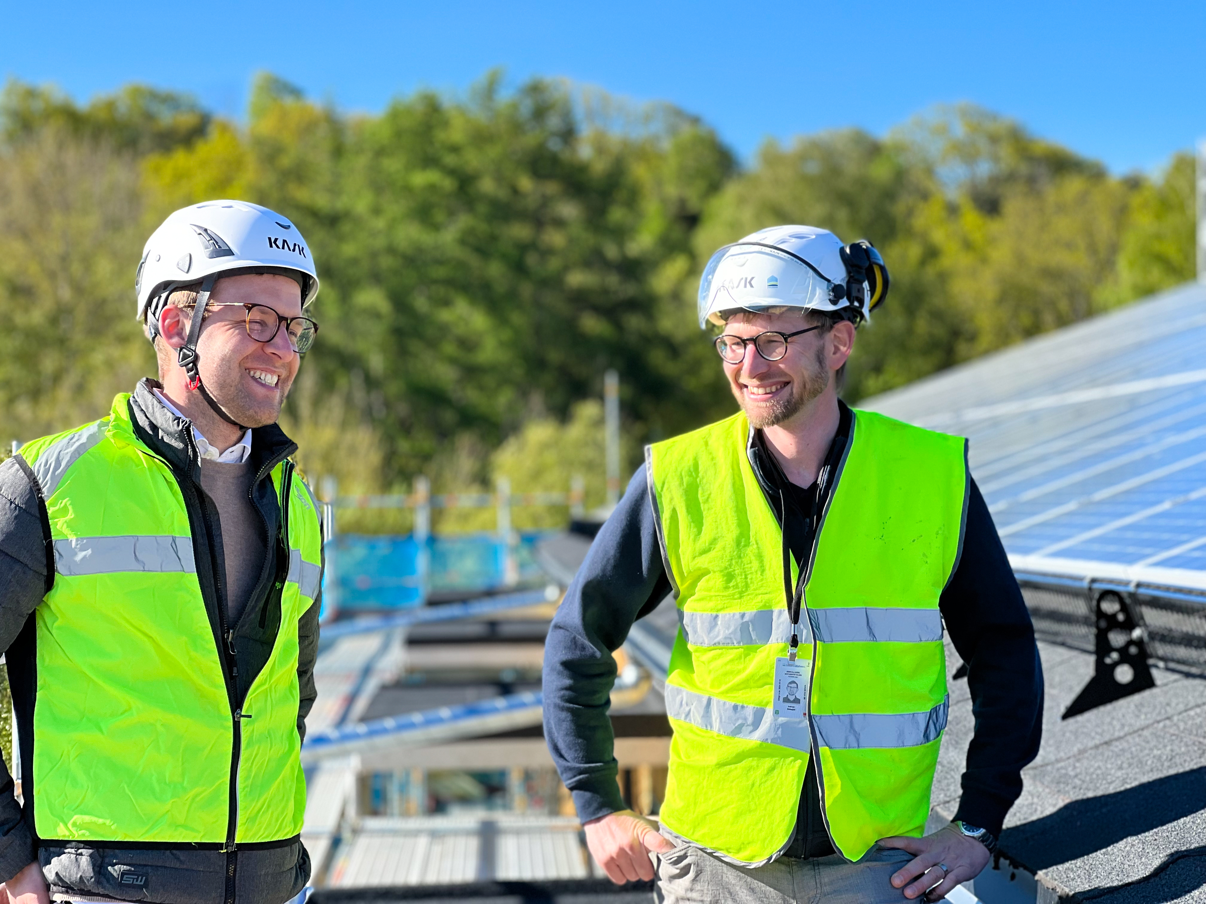
<svg viewBox="0 0 1206 904"><path fill-rule="evenodd" d="M827 229L780 225L720 248L699 280L699 329L721 311L803 307L859 324L888 295L888 268L866 240L842 245Z"/></svg>

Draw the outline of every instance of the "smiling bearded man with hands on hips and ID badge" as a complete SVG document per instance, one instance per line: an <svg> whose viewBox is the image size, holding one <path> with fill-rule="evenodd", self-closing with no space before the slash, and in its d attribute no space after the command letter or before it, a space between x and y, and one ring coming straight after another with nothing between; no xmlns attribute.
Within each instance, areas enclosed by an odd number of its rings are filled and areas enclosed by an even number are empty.
<svg viewBox="0 0 1206 904"><path fill-rule="evenodd" d="M740 411L648 447L545 645L545 736L596 861L667 902L942 898L976 876L1038 750L1034 629L966 442L838 398L883 258L812 227L726 246L699 286ZM628 810L611 652L673 594L660 826ZM976 735L925 834L949 694Z"/></svg>

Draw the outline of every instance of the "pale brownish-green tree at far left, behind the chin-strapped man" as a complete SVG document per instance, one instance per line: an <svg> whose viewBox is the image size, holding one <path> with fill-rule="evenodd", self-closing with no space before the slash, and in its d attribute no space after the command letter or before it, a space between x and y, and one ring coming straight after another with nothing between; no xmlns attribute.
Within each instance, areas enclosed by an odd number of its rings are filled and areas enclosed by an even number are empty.
<svg viewBox="0 0 1206 904"><path fill-rule="evenodd" d="M153 372L134 319L140 212L128 154L58 127L0 149L5 442L96 418Z"/></svg>

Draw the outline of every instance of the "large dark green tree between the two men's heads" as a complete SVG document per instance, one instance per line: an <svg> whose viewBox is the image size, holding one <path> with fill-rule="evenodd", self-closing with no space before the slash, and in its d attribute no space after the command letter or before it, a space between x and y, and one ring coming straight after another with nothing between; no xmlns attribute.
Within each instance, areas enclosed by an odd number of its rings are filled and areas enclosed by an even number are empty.
<svg viewBox="0 0 1206 904"><path fill-rule="evenodd" d="M692 142L710 153L663 165ZM487 80L353 123L343 160L321 359L364 380L404 472L464 432L493 445L529 411L563 415L608 366L637 424L686 425L652 277L731 165L710 133L591 133L562 86Z"/></svg>

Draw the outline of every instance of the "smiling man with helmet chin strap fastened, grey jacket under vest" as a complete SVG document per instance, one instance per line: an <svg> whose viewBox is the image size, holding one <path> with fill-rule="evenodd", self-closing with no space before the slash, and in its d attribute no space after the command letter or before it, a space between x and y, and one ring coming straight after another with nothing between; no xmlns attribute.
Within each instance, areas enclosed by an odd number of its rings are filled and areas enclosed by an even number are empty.
<svg viewBox="0 0 1206 904"><path fill-rule="evenodd" d="M0 464L0 648L24 808L0 765L8 900L294 897L322 538L276 425L317 324L310 248L244 201L147 241L159 380Z"/></svg>

